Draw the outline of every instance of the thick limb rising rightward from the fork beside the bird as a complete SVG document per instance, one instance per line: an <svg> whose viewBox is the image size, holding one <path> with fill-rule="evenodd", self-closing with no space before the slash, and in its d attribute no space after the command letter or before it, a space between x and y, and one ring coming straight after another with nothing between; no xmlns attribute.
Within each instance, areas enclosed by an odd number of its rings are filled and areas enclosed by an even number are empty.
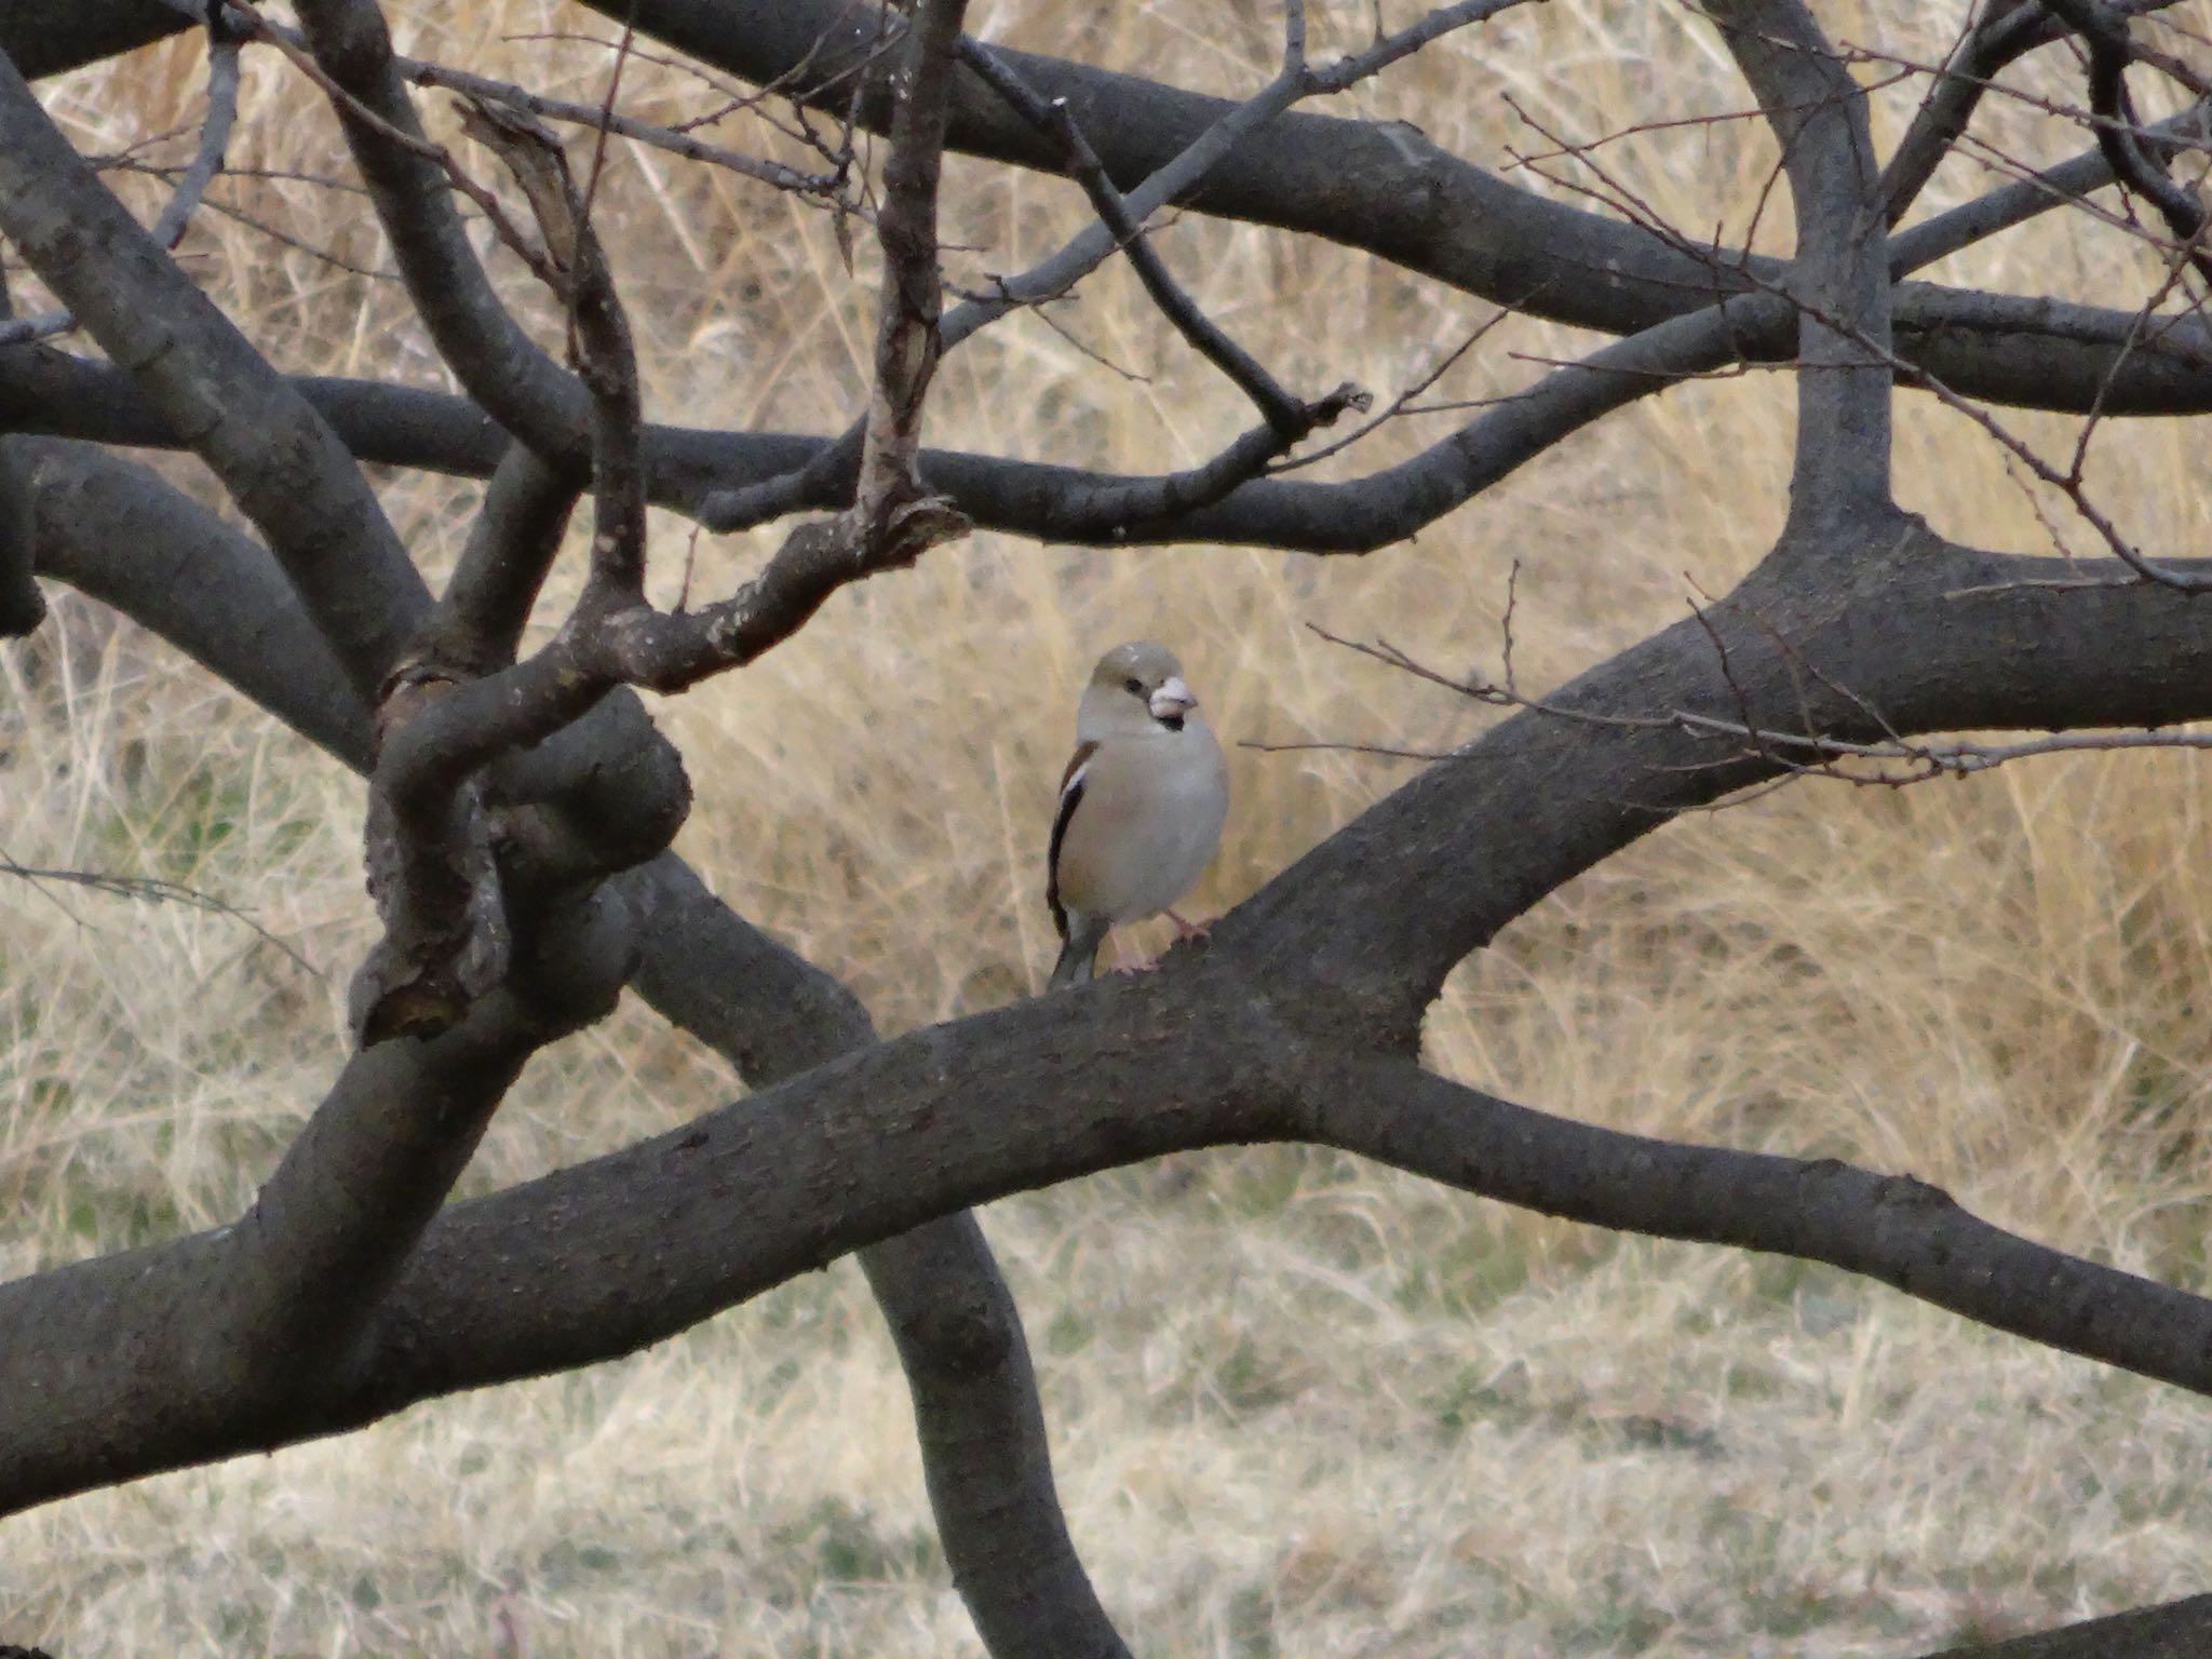
<svg viewBox="0 0 2212 1659"><path fill-rule="evenodd" d="M1672 814L1783 770L1736 737L1650 730L1652 714L1885 739L2212 712L2190 679L2212 675L2212 613L2117 560L1978 553L1907 522L1820 562L1849 573L1818 593L1754 573L1544 699L1586 721L1522 712L1429 768L1223 918L1217 947L1290 929L1312 942L1285 958L1310 975L1310 1018L1411 1044L1451 967L1509 920ZM2084 580L2115 586L2037 586ZM1528 801L1544 803L1533 818ZM1418 860L1394 852L1409 845Z"/></svg>

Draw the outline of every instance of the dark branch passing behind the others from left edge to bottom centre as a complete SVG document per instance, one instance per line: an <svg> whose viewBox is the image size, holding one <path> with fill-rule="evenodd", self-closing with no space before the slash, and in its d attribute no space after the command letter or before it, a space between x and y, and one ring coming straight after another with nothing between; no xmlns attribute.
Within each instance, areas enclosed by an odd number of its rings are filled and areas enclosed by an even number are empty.
<svg viewBox="0 0 2212 1659"><path fill-rule="evenodd" d="M367 708L259 549L142 467L84 445L18 442L38 467L35 546L49 575L166 624L188 655L367 770ZM566 491L515 456L529 451L518 445L500 473L513 491L511 513L518 524L542 524ZM502 513L487 502L491 518ZM155 535L164 524L168 535ZM126 553L142 546L173 546L175 557L153 564ZM177 617L168 599L179 593L206 595L206 604ZM668 843L688 805L681 763L626 692L504 761L498 794L549 803L509 812L511 889L637 865ZM637 918L639 993L721 1048L750 1084L794 1077L874 1042L852 993L748 927L672 854L630 869L617 891ZM865 1250L860 1261L914 1391L945 1553L987 1644L993 1652L1042 1644L1119 1655L1066 1535L1020 1314L982 1230L967 1214L947 1217Z"/></svg>

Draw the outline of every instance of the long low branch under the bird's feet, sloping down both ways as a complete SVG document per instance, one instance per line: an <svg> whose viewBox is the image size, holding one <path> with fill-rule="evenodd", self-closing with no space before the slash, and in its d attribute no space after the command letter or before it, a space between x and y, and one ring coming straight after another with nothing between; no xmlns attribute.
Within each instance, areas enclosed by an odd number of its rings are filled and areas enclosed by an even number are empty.
<svg viewBox="0 0 2212 1659"><path fill-rule="evenodd" d="M845 1250L1024 1186L1256 1139L1321 1139L1553 1214L1832 1261L2000 1329L2212 1391L2203 1298L2033 1245L1909 1179L1650 1141L1363 1057L1365 1042L1316 1046L1327 1037L1252 995L1259 949L1248 933L1148 982L920 1031L677 1133L449 1206L347 1374L281 1438L633 1352ZM44 1329L75 1338L62 1343L73 1349L86 1336L82 1314L64 1318L71 1307L102 1305L124 1274L142 1294L175 1292L217 1243L201 1234L0 1285L0 1323L15 1327L35 1296L60 1321ZM586 1259L593 1272L577 1272ZM53 1363L53 1352L0 1352L0 1383ZM192 1458L276 1442L265 1418L197 1429ZM161 1464L95 1467L0 1422L7 1506Z"/></svg>

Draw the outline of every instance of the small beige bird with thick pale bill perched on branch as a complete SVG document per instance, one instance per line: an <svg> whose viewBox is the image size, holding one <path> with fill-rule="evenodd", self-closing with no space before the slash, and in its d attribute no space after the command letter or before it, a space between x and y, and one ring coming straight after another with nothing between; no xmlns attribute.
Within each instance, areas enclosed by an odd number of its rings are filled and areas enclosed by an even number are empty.
<svg viewBox="0 0 2212 1659"><path fill-rule="evenodd" d="M1166 911L1183 938L1203 933L1172 905L1214 860L1228 810L1228 761L1175 653L1133 639L1099 657L1046 854L1044 902L1064 940L1048 989L1088 980L1121 922Z"/></svg>

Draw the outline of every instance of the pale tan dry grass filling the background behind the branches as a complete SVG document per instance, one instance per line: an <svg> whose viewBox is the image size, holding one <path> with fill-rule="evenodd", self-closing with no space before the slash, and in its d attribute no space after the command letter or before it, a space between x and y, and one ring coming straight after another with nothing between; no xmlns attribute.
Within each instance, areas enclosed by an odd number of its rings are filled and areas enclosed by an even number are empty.
<svg viewBox="0 0 2212 1659"><path fill-rule="evenodd" d="M604 73L584 46L502 44L602 31L555 4L387 9L422 51L553 91L595 95ZM1267 13L1248 7L1073 15L1009 0L978 22L1221 91L1272 55ZM1363 20L1338 7L1316 29ZM1836 27L1942 51L1902 0ZM630 86L646 113L701 102L659 71ZM1540 146L1506 93L1579 137L1747 102L1683 9L1559 0L1356 104L1495 161ZM93 148L175 126L195 100L181 44L55 91ZM237 161L343 173L330 122L265 58L246 115ZM1880 119L1896 133L1902 104ZM1997 119L2024 157L2079 146L2033 111ZM1681 223L1739 234L1772 166L1743 122L1606 155ZM951 184L951 234L984 250L971 270L1020 268L1075 221L1053 181L956 164ZM1936 195L1978 184L1953 161ZM363 270L385 263L354 197L219 192ZM628 153L604 212L657 411L845 418L867 303L821 215ZM1759 234L1785 243L1778 204ZM1252 228L1183 221L1166 248L1292 385L1389 392L1489 312ZM392 283L212 215L188 252L288 367L438 378ZM2110 299L2143 272L2110 232L2044 226L1944 274ZM1243 422L1121 272L1062 321L1146 378L1015 321L949 365L931 436L1150 469ZM1586 345L1526 323L1493 343ZM1444 392L1533 374L1489 352ZM1495 666L1520 560L1520 666L1553 684L1756 557L1783 507L1787 396L1778 376L1683 387L1369 560L989 535L931 555L666 710L699 785L681 847L887 1029L1002 1002L1051 956L1037 858L1064 703L1102 644L1179 644L1232 739L1462 741L1480 710L1303 624ZM1358 465L1451 418L1385 434ZM2130 533L2179 551L2203 540L2203 465L2188 427L2137 425L2104 434L2095 476ZM1922 400L1902 411L1898 476L1944 531L2046 546L1993 449ZM429 566L469 500L387 484ZM672 593L686 535L666 529ZM761 546L701 544L695 584L723 588ZM219 916L0 885L0 1267L24 1272L239 1208L338 1064L369 918L356 785L204 675L88 606L0 653L0 675L7 856L188 880L319 969ZM1214 905L1405 776L1347 754L1239 752L1234 772ZM2002 1223L2201 1287L2208 869L2194 757L1907 794L1798 787L1679 823L1540 907L1462 969L1431 1055L1624 1128L1913 1170ZM469 1181L622 1144L728 1091L626 1009L531 1068ZM1827 1270L1619 1241L1312 1150L1172 1159L993 1206L987 1225L1040 1352L1075 1535L1144 1655L1907 1652L2203 1588L2199 1402ZM624 1365L4 1522L0 1639L69 1659L975 1650L849 1267Z"/></svg>

